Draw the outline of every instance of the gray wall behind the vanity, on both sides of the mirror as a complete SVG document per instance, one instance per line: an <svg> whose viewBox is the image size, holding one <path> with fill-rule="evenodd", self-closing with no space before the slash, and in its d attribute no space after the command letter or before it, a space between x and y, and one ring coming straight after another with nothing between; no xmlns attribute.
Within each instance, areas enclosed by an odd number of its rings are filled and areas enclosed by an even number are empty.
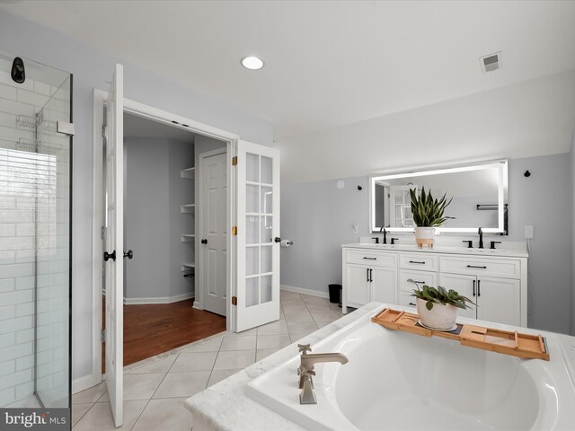
<svg viewBox="0 0 575 431"><path fill-rule="evenodd" d="M531 177L524 177L528 169ZM571 303L571 168L566 154L509 160L509 237L535 225L528 273L529 326L569 333ZM282 184L281 284L327 292L341 283L341 244L369 235L367 177ZM363 190L358 191L361 185ZM358 224L358 235L352 224ZM397 236L397 235L394 235ZM471 238L471 235L468 235ZM474 235L473 235L474 239Z"/></svg>

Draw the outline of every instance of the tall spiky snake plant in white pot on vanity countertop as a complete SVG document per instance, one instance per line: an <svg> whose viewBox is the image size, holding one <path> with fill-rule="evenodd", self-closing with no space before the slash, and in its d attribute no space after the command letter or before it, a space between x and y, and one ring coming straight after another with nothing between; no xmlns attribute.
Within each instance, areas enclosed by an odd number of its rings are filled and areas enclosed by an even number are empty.
<svg viewBox="0 0 575 431"><path fill-rule="evenodd" d="M411 213L415 224L415 243L418 247L427 245L433 247L435 242L435 228L446 223L448 217L444 216L446 208L451 204L453 198L447 201L446 194L442 198L433 198L431 190L425 192L425 187L421 188L418 196L417 189L410 189Z"/></svg>

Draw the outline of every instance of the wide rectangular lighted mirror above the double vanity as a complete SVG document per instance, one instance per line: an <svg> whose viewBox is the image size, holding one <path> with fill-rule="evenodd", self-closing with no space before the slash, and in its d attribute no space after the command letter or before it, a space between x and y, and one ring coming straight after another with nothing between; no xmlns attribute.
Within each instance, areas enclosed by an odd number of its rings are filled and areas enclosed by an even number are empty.
<svg viewBox="0 0 575 431"><path fill-rule="evenodd" d="M431 191L434 197L453 198L446 208L450 218L441 233L508 233L507 160L370 177L370 226L390 232L412 232L410 189Z"/></svg>

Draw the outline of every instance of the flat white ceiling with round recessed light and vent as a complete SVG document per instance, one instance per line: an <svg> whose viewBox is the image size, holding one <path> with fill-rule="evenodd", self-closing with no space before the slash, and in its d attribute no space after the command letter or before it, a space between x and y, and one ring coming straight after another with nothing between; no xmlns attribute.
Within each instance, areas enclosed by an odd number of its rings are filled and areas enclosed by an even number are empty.
<svg viewBox="0 0 575 431"><path fill-rule="evenodd" d="M1 4L273 120L276 139L575 68L575 2ZM482 74L479 57L502 51ZM240 66L261 56L257 72Z"/></svg>

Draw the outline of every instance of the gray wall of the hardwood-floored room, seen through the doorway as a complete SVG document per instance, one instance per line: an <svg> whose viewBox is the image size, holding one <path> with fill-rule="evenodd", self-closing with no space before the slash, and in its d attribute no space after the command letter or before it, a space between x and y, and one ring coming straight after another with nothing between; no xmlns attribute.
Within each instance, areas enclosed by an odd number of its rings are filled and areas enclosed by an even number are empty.
<svg viewBox="0 0 575 431"><path fill-rule="evenodd" d="M127 175L124 208L124 296L166 298L193 292L181 263L193 260L193 242L181 242L181 233L193 233L193 216L181 214L183 203L193 202L193 184L180 170L194 163L193 144L170 139L127 137Z"/></svg>

